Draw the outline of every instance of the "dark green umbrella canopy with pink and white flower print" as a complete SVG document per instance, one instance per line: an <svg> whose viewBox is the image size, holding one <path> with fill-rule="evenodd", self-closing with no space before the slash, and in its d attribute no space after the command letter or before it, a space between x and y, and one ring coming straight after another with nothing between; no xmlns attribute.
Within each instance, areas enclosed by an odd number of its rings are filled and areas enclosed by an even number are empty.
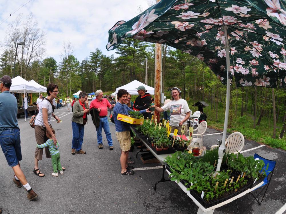
<svg viewBox="0 0 286 214"><path fill-rule="evenodd" d="M168 44L204 61L227 83L225 32L231 47L230 77L237 86L286 86L286 3L283 0L162 0L119 21L107 50L128 37ZM279 83L277 83L277 80Z"/></svg>

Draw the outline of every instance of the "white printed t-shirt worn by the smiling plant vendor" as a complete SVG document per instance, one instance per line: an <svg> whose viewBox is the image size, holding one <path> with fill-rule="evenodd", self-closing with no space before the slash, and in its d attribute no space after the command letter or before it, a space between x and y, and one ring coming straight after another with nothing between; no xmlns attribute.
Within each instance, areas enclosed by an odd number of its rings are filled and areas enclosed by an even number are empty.
<svg viewBox="0 0 286 214"><path fill-rule="evenodd" d="M164 112L170 110L170 125L171 126L179 126L179 123L184 120L186 117L186 113L190 112L190 108L188 103L184 99L172 100L168 102L166 105L161 107ZM187 121L183 123L183 125L188 124Z"/></svg>

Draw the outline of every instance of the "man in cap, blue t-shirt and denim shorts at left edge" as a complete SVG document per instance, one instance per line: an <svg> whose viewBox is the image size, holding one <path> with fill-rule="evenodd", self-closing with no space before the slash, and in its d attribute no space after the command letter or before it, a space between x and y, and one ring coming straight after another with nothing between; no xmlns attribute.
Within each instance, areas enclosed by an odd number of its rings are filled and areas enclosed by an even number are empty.
<svg viewBox="0 0 286 214"><path fill-rule="evenodd" d="M19 161L22 160L20 129L17 120L17 99L10 93L12 80L10 76L0 78L0 145L7 163L15 175L13 182L17 187L22 185L27 190L27 198L32 201L38 195L29 185ZM4 113L5 112L5 113Z"/></svg>

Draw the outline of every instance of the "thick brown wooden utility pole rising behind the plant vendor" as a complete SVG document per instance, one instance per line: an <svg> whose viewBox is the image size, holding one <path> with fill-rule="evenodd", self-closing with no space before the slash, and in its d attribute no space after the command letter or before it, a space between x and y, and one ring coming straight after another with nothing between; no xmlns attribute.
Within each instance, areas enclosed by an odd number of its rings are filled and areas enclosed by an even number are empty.
<svg viewBox="0 0 286 214"><path fill-rule="evenodd" d="M158 3L160 0L156 0ZM155 78L154 78L154 104L155 106L160 105L160 97L161 97L161 71L162 71L162 46L159 43L155 44ZM157 123L160 122L160 112L155 110L154 112L154 120L157 116Z"/></svg>

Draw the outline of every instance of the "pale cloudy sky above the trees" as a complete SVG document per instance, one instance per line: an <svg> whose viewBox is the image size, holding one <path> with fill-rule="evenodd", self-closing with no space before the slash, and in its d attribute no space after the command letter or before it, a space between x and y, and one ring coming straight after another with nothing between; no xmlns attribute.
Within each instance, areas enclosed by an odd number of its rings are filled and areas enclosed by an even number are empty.
<svg viewBox="0 0 286 214"><path fill-rule="evenodd" d="M79 61L96 48L106 55L108 30L120 20L138 15L138 7L148 8L155 0L0 0L0 54L3 53L5 32L19 14L23 20L33 13L38 27L46 34L46 57L61 60L63 43L68 40ZM25 6L21 7L21 5ZM15 12L19 7L18 11ZM10 13L12 15L10 16ZM5 20L7 18L7 20ZM5 20L5 21L4 21ZM4 21L4 22L3 22ZM3 23L2 23L3 22ZM1 24L2 23L2 24Z"/></svg>

